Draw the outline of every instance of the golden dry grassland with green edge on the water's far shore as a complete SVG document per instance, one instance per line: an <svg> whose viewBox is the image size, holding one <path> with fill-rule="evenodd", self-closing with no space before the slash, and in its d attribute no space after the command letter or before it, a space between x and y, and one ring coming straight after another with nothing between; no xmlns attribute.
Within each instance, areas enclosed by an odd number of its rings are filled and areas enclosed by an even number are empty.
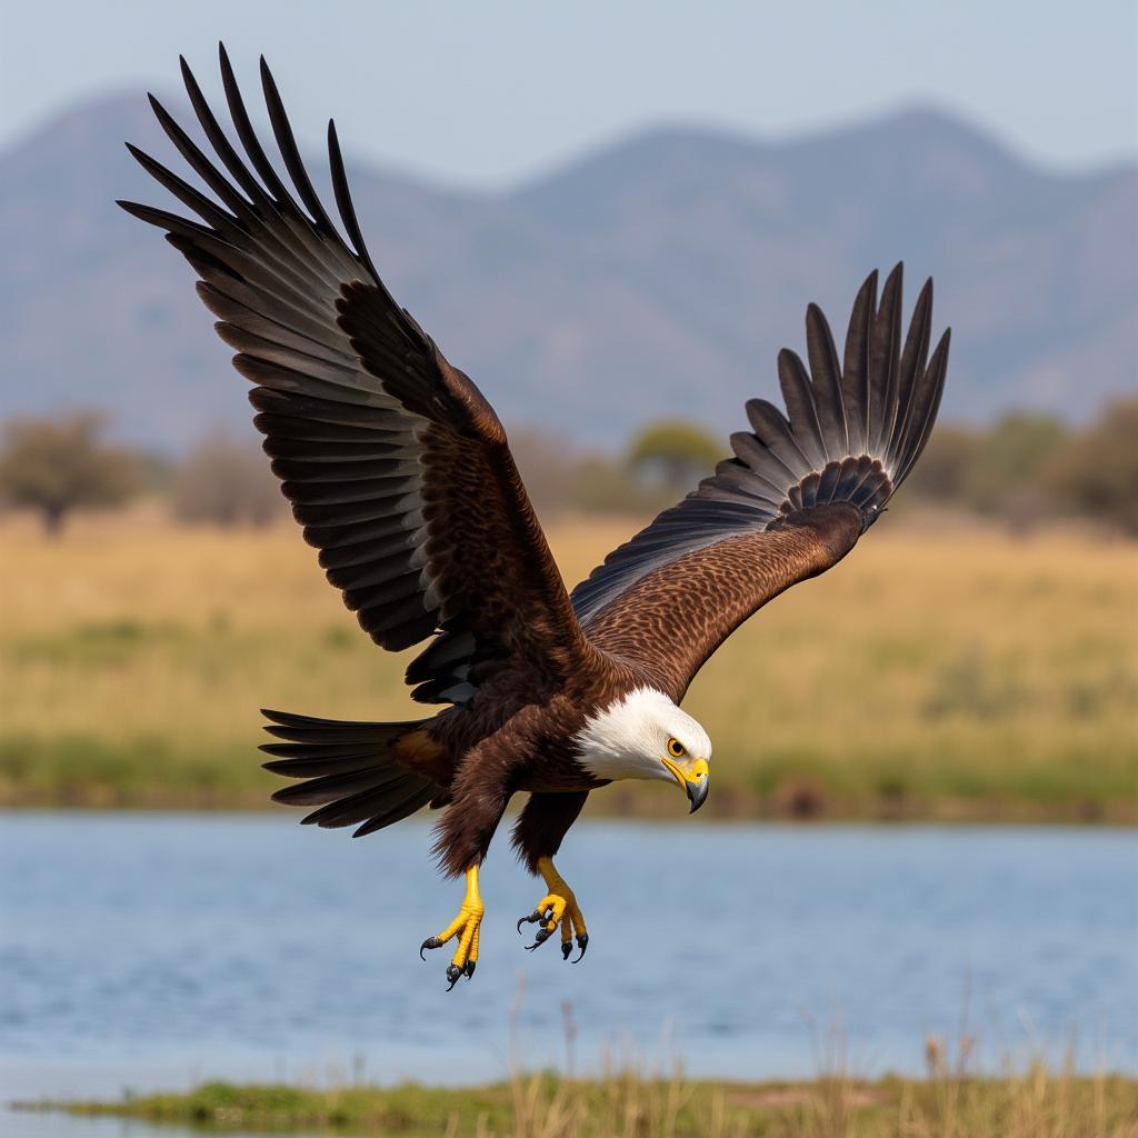
<svg viewBox="0 0 1138 1138"><path fill-rule="evenodd" d="M568 578L632 523L566 522ZM259 706L418 714L291 528L82 521L0 533L0 802L261 806ZM1135 820L1138 556L887 518L745 626L687 707L708 813ZM657 786L594 795L669 814Z"/></svg>

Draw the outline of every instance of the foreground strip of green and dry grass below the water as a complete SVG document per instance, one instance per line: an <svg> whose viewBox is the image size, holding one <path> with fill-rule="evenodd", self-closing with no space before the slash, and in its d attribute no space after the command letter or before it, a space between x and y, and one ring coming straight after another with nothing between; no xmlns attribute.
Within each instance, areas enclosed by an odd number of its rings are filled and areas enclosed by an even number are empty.
<svg viewBox="0 0 1138 1138"><path fill-rule="evenodd" d="M1133 1138L1138 1081L1042 1066L1001 1078L835 1077L711 1083L613 1072L473 1089L406 1085L306 1089L207 1083L117 1103L44 1104L224 1131L331 1131L513 1138Z"/></svg>

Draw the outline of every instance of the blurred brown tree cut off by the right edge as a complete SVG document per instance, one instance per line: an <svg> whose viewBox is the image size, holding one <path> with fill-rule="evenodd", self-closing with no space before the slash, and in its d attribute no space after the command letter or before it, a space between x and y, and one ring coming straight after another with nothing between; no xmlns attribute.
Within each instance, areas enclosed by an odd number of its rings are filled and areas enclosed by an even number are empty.
<svg viewBox="0 0 1138 1138"><path fill-rule="evenodd" d="M1138 536L1138 398L1110 404L1046 470L1070 509Z"/></svg>

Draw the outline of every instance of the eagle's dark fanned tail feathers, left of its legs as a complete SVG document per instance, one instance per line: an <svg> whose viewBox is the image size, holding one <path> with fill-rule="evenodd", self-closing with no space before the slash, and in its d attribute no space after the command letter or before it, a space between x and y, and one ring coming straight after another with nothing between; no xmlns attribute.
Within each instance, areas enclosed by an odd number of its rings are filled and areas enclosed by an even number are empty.
<svg viewBox="0 0 1138 1138"><path fill-rule="evenodd" d="M404 766L396 744L428 720L354 723L314 719L286 711L261 712L265 731L280 743L263 743L274 758L264 764L273 774L302 778L284 786L273 800L288 806L319 806L303 820L318 826L353 826L362 838L402 822L445 790L435 780Z"/></svg>

